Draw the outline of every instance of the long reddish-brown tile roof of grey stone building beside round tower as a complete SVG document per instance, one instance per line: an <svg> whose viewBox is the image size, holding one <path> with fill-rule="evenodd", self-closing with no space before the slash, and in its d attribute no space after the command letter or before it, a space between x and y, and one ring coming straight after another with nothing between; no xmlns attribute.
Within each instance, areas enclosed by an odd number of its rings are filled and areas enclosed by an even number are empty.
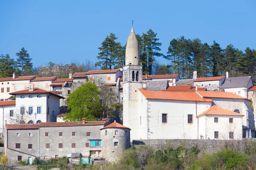
<svg viewBox="0 0 256 170"><path fill-rule="evenodd" d="M42 122L40 124L7 124L6 129L38 129L39 127L74 127L74 126L100 126L105 125L107 121L95 122Z"/></svg>

